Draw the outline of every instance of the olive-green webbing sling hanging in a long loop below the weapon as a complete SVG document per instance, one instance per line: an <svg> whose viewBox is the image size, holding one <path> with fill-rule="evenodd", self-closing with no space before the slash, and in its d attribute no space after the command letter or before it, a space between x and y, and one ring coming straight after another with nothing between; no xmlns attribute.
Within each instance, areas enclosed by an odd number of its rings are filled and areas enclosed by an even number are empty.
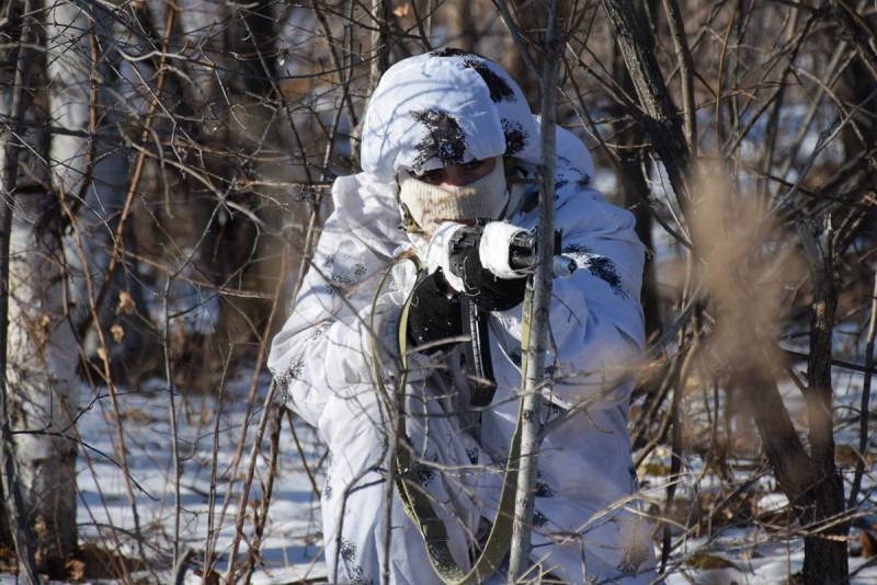
<svg viewBox="0 0 877 585"><path fill-rule="evenodd" d="M415 264L417 260L414 260ZM372 318L369 325L374 325L374 314L377 306L377 297L380 289L384 287L390 271L384 275L378 290L375 294L372 303ZM418 282L424 276L418 264ZM402 306L401 316L399 318L398 328L398 346L399 357L401 362L401 372L399 376L399 388L405 389L408 377L408 312L411 306L411 297L409 295L405 305ZM533 298L533 280L527 280L526 294L524 296L524 320L522 323L522 347L524 353L522 356L522 380L526 376L526 347L529 339L529 324ZM374 331L374 329L373 329ZM388 406L392 404L392 399L384 386L383 376L380 375L379 355L376 347L376 336L372 335L372 353L374 360L372 369L375 378L375 383L378 390L384 395ZM403 409L399 409L399 416L402 416ZM497 516L493 518L493 526L490 529L487 542L481 554L478 555L472 567L469 572L464 572L454 561L448 548L447 529L444 521L435 513L432 505L430 495L423 490L420 480L414 470L413 457L411 452L411 445L408 438L402 433L398 437L398 446L396 449L396 458L392 461L392 473L396 482L396 489L399 491L399 496L402 500L405 512L414 526L418 527L423 540L426 544L426 552L430 557L433 570L446 585L477 585L487 580L493 572L497 571L505 554L508 554L512 542L512 521L514 519L514 496L517 486L517 461L521 457L521 423L524 418L523 409L519 404L517 409L517 424L515 425L514 434L512 435L512 443L509 446L509 458L505 464L505 473L502 482L502 492L500 495L500 504L497 509ZM399 428L403 428L400 425Z"/></svg>

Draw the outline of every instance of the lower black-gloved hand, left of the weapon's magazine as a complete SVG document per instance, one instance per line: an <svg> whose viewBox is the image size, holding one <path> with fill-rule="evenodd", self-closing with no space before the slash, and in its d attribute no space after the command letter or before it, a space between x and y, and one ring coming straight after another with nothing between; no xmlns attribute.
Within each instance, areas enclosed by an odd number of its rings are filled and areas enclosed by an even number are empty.
<svg viewBox="0 0 877 585"><path fill-rule="evenodd" d="M463 335L459 295L447 286L438 268L414 287L408 309L408 340L414 347ZM452 343L452 342L448 342ZM446 348L436 344L426 354Z"/></svg>

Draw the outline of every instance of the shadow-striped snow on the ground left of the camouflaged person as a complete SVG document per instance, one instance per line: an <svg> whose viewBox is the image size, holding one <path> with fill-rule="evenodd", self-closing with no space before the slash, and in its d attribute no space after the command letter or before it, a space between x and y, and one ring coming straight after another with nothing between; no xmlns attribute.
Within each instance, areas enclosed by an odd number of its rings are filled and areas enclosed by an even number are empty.
<svg viewBox="0 0 877 585"><path fill-rule="evenodd" d="M189 548L203 551L213 523L216 527L218 570L227 569L243 479L267 390L267 379L263 377L261 382L261 392L254 400L249 417L246 413L249 379L246 378L229 385L221 403L214 397L183 393L173 397L178 411L181 468L179 521L174 506L176 477L171 447L170 393L161 382L155 381L146 392L118 395L124 440L128 449L126 461L130 479L136 482L134 501L139 526L149 541L146 553L157 564L171 564L174 535L178 531L181 552ZM80 540L103 542L124 554L139 557L136 542L128 534L135 529L134 507L125 475L117 464L121 458L109 397L102 390L99 397L86 398L89 402L94 400L94 403L79 423L82 439L91 447L83 449L78 463ZM244 431L246 447L236 467L235 454ZM305 441L305 447L309 448L309 459L316 461L320 452L314 444L312 434L307 428L298 428L297 433L299 439ZM297 581L308 573L309 566L311 576L321 571L321 549L317 538L319 511L288 425L283 428L280 444L282 452L277 478L260 549L263 565L254 583ZM110 457L99 455L93 449ZM269 468L267 440L263 441L263 451L255 461L250 502L261 501L262 497L261 482L266 480ZM217 479L214 485L215 503L212 505L210 477L214 468ZM244 524L247 538L252 535L252 504L250 506ZM247 550L247 539L243 539L239 555L246 555ZM195 577L194 573L191 576L195 580L192 583L200 583L200 577Z"/></svg>

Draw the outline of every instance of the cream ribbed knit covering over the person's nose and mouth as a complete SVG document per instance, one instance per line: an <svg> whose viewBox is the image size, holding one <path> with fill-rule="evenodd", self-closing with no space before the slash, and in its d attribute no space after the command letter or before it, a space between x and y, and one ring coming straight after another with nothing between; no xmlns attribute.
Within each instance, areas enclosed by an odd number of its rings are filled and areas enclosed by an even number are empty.
<svg viewBox="0 0 877 585"><path fill-rule="evenodd" d="M417 223L407 226L409 231L413 228L431 234L443 221L500 219L509 204L502 159L497 160L490 173L460 186L433 185L400 173L399 199L403 214Z"/></svg>

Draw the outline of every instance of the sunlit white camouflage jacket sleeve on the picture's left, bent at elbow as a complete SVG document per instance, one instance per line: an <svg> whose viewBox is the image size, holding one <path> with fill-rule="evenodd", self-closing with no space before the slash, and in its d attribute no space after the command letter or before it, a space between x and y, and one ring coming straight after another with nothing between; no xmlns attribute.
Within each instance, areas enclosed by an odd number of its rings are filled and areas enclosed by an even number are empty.
<svg viewBox="0 0 877 585"><path fill-rule="evenodd" d="M269 355L282 400L318 428L330 398L372 386L373 300L398 245L387 237L398 231L398 211L381 187L363 174L335 181L335 211L326 220L293 311ZM403 300L392 280L376 303L374 334L385 356L392 353Z"/></svg>

